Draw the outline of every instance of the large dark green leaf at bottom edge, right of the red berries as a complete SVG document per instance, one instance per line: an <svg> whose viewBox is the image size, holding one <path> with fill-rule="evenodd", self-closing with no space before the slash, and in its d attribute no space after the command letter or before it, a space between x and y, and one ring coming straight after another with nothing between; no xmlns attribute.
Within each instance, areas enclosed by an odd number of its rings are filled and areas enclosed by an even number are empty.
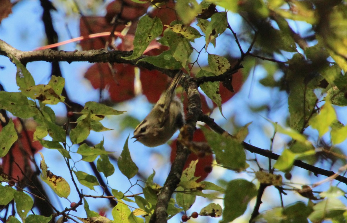
<svg viewBox="0 0 347 223"><path fill-rule="evenodd" d="M224 197L223 220L221 223L231 222L243 215L249 201L256 195L257 189L253 183L244 179L230 181Z"/></svg>

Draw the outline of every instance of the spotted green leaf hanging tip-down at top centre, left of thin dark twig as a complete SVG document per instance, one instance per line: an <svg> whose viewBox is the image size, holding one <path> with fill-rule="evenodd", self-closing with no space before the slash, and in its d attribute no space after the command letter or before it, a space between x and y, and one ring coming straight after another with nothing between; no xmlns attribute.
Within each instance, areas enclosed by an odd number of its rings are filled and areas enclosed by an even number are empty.
<svg viewBox="0 0 347 223"><path fill-rule="evenodd" d="M228 27L228 18L226 12L214 13L211 16L211 22L206 27L205 31L205 41L206 48L209 43L217 38L219 34L222 34ZM213 44L215 47L215 44Z"/></svg>

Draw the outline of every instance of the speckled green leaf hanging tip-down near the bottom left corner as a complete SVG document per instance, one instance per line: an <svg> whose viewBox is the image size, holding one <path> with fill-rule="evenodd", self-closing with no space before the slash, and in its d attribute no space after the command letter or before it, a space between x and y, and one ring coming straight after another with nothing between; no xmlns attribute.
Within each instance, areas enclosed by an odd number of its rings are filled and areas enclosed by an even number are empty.
<svg viewBox="0 0 347 223"><path fill-rule="evenodd" d="M29 195L27 195L23 191L16 191L14 193L14 199L16 202L17 214L19 215L20 219L22 219L22 221L25 223L26 215L28 214L29 210L33 207L34 201Z"/></svg>

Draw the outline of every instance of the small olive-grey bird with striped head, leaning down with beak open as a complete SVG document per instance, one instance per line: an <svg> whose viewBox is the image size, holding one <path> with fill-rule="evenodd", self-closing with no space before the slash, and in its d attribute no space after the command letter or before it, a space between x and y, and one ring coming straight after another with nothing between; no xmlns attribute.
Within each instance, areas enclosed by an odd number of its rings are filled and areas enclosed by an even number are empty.
<svg viewBox="0 0 347 223"><path fill-rule="evenodd" d="M155 147L166 143L184 125L182 102L175 94L176 86L183 72L178 72L163 92L151 112L136 127L134 137L145 146Z"/></svg>

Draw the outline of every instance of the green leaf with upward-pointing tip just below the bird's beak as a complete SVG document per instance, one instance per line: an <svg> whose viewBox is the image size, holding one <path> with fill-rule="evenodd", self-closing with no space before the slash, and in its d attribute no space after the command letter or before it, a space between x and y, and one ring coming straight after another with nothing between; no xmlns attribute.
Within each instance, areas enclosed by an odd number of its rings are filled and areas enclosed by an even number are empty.
<svg viewBox="0 0 347 223"><path fill-rule="evenodd" d="M132 178L133 176L136 175L138 172L138 167L136 164L133 162L129 148L128 148L128 139L124 143L123 151L120 154L120 157L118 158L118 168L122 174L124 174L128 179Z"/></svg>

